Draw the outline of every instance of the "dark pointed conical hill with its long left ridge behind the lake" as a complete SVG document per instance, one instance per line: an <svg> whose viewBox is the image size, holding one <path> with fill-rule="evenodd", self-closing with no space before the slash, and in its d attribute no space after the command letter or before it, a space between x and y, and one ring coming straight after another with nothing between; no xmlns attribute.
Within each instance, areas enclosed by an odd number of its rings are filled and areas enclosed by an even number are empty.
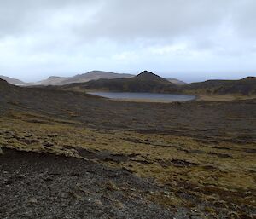
<svg viewBox="0 0 256 219"><path fill-rule="evenodd" d="M144 71L132 78L92 80L87 83L67 84L61 89L168 93L177 91L177 85L152 72Z"/></svg>

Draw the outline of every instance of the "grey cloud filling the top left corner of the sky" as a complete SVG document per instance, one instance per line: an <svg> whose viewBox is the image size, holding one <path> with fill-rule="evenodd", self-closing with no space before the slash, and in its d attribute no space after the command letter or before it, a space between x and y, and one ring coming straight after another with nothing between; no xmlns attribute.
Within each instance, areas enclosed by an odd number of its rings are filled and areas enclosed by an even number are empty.
<svg viewBox="0 0 256 219"><path fill-rule="evenodd" d="M97 0L1 0L0 37L19 36L38 30L40 27L45 28L44 20L56 12L73 5L79 7L79 5L97 2Z"/></svg>

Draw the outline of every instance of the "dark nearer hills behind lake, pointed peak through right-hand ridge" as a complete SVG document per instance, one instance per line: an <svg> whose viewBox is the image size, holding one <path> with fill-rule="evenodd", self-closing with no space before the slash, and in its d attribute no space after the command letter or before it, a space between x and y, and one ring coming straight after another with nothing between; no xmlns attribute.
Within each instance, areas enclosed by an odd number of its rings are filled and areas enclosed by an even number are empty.
<svg viewBox="0 0 256 219"><path fill-rule="evenodd" d="M144 71L133 78L92 80L87 83L66 84L58 89L180 93L194 95L256 95L256 78L247 77L241 80L208 80L200 83L177 85L152 72Z"/></svg>

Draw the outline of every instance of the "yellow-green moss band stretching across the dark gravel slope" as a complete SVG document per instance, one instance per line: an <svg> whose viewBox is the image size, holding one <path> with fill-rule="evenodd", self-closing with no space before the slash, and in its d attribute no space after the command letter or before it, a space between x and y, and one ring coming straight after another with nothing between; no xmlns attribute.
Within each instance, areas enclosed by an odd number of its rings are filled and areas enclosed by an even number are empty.
<svg viewBox="0 0 256 219"><path fill-rule="evenodd" d="M179 135L92 130L74 120L32 112L7 113L0 118L0 127L0 143L4 147L77 158L80 148L126 156L128 158L120 162L108 159L98 162L129 169L139 177L154 178L161 187L166 187L166 191L172 192L146 195L146 199L160 205L195 206L179 193L192 195L199 202L207 200L211 207L205 210L209 213L213 213L214 207L229 208L230 205L231 209L231 205L253 205L253 195L247 192L256 191L255 158L253 153L243 151L243 148L253 149L252 143L238 144L219 139L216 143ZM44 142L50 142L52 146L46 147ZM230 157L224 158L223 154ZM181 163L175 164L173 160ZM107 187L109 190L120 189L113 182Z"/></svg>

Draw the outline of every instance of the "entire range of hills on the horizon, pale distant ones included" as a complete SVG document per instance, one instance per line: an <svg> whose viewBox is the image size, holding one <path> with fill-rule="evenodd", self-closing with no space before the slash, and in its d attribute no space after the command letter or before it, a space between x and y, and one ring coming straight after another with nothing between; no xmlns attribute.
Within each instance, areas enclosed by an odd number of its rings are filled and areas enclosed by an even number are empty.
<svg viewBox="0 0 256 219"><path fill-rule="evenodd" d="M102 90L119 92L152 92L152 93L180 93L194 95L256 95L256 77L240 80L207 80L205 82L182 84L177 79L166 79L144 71L137 76L131 74L117 74L113 72L92 71L74 77L49 77L38 84L29 84L19 79L0 76L1 86L10 84L53 85L53 89L72 89L79 91ZM175 81L173 81L175 80ZM11 86L9 86L11 88Z"/></svg>

